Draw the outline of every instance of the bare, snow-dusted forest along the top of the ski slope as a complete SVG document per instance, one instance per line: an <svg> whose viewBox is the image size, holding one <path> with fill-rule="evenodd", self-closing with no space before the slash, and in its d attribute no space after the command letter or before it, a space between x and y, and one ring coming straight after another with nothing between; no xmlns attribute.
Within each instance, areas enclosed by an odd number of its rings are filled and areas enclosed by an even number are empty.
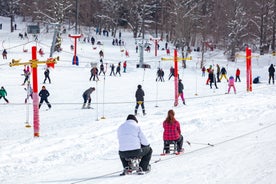
<svg viewBox="0 0 276 184"><path fill-rule="evenodd" d="M134 38L145 33L192 47L224 49L230 59L250 46L275 51L276 0L1 0L0 15L31 18L39 24L69 24L109 30Z"/></svg>

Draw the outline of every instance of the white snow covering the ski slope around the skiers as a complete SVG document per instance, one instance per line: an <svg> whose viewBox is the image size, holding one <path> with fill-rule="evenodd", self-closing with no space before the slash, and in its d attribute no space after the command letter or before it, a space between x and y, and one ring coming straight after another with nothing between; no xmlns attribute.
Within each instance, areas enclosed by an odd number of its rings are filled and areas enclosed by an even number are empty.
<svg viewBox="0 0 276 184"><path fill-rule="evenodd" d="M9 67L12 59L21 62L31 59L31 47L43 48L49 56L53 32L42 33L38 43L29 35L29 40L21 40L27 23L17 20L14 33L9 33L9 19L0 17L2 47L8 48L8 60L0 62L0 85L8 92L10 103L0 100L0 183L3 184L89 184L89 183L193 183L193 184L272 184L276 179L276 98L275 85L268 85L267 69L276 64L272 55L258 56L253 53L253 77L261 76L262 83L253 84L253 91L246 91L245 58L237 62L227 62L222 51L208 52L206 66L225 66L228 76L241 69L242 82L236 83L237 94L227 91L227 82L218 83L219 89L210 89L205 84L206 77L199 69L200 54L192 52L192 61L187 61L187 69L179 64L179 76L184 84L186 106L174 103L174 79L168 80L172 61L161 61L167 56L153 48L145 52L145 63L151 69L136 68L139 55L135 53L132 33L122 30L126 48L112 46L111 37L95 35L103 46L93 49L90 43L78 42L79 66L72 65L73 40L63 34L63 51L54 69L50 71L51 84L43 84L45 66L38 67L39 90L45 85L51 96L52 109L46 111L43 104L40 116L40 137L33 136L33 128L25 128L25 123L33 123L32 105L24 104L25 86L21 86L23 66ZM88 31L83 31L88 34ZM73 33L73 32L72 32ZM160 42L161 48L164 42ZM10 48L10 49L9 49ZM23 49L28 52L23 52ZM171 46L172 48L172 46ZM3 48L2 48L3 49ZM98 82L89 81L90 63L99 63L99 50L103 49L104 63L127 60L127 72L122 76L101 75ZM122 49L129 51L125 57ZM172 53L172 52L171 52ZM244 55L243 52L240 53ZM165 71L165 82L156 82L157 67ZM118 157L116 131L128 114L134 113L134 94L137 85L145 91L146 116L141 109L137 119L151 143L153 155L152 171L147 175L124 176ZM82 93L89 87L96 87L92 94L94 109L81 109ZM197 94L197 95L195 95ZM156 107L158 106L158 107ZM28 110L29 109L29 110ZM162 122L167 111L173 109L181 123L185 141L185 152L178 156L160 156L163 149ZM28 111L27 111L28 110ZM103 119L104 117L105 119ZM214 146L209 146L214 144ZM159 162L159 159L161 159Z"/></svg>

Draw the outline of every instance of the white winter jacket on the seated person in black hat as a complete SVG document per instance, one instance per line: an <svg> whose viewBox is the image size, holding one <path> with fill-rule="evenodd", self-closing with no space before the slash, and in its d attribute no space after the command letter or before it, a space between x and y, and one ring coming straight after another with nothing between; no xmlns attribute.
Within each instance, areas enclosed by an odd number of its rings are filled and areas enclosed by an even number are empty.
<svg viewBox="0 0 276 184"><path fill-rule="evenodd" d="M143 146L149 146L149 142L140 126L134 120L126 120L118 131L119 151L137 150Z"/></svg>

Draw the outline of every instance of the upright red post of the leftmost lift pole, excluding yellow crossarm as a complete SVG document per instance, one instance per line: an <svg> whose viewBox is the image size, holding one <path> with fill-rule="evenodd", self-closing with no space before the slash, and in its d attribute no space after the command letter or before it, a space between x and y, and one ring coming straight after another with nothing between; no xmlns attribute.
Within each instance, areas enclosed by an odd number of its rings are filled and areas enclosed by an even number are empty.
<svg viewBox="0 0 276 184"><path fill-rule="evenodd" d="M36 47L32 47L32 60L37 60ZM37 80L37 63L32 62L32 77L33 77L33 123L34 123L34 136L39 137L39 99L38 99L38 80Z"/></svg>

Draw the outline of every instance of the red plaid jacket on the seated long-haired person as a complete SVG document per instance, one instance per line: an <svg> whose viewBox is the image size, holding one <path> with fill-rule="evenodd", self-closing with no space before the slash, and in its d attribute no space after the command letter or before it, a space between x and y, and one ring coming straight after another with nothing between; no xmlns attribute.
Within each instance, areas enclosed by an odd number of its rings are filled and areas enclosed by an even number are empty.
<svg viewBox="0 0 276 184"><path fill-rule="evenodd" d="M174 120L173 123L169 123L164 121L163 122L163 140L178 140L181 135L181 130L180 130L180 124L177 120Z"/></svg>

